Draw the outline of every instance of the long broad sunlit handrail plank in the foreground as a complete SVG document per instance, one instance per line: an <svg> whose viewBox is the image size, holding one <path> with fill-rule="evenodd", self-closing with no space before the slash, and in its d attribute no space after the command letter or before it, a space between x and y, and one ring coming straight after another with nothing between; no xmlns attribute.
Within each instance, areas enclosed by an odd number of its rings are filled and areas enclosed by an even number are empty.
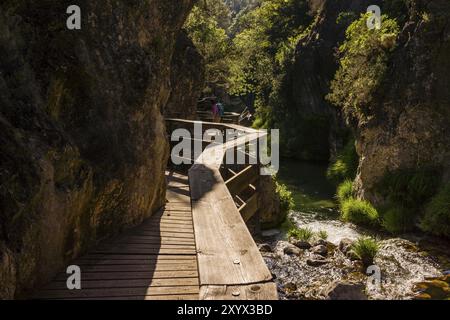
<svg viewBox="0 0 450 320"><path fill-rule="evenodd" d="M214 172L212 192L199 195L202 200L192 203L200 283L232 285L271 280L220 173ZM202 171L191 169L191 183L200 182L201 175Z"/></svg>

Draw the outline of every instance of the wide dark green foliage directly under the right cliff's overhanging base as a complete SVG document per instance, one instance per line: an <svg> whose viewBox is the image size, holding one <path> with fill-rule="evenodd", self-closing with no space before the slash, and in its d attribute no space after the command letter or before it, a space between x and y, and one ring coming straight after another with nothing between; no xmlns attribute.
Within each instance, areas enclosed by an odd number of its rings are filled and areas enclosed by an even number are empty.
<svg viewBox="0 0 450 320"><path fill-rule="evenodd" d="M377 185L377 190L393 204L417 209L436 193L439 177L439 170L435 168L387 172Z"/></svg>

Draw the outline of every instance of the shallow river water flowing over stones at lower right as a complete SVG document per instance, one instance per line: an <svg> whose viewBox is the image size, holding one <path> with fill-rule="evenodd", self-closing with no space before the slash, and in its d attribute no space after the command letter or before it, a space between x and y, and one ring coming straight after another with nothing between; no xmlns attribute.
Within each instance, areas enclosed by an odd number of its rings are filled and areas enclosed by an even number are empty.
<svg viewBox="0 0 450 320"><path fill-rule="evenodd" d="M365 283L369 299L411 299L418 294L418 283L448 273L449 243L442 239L421 234L394 238L340 221L334 200L335 186L325 173L326 164L282 161L278 179L288 186L295 201L290 220L297 227L326 231L327 241L336 246L344 238L356 240L366 235L377 238L380 250L374 263L381 272L379 281L368 278L363 270L357 271L355 261L338 249L329 252L330 263L316 267L306 263L311 255L308 251L300 256L284 254L288 229L284 226L265 232L265 237L259 240L273 249L263 256L276 278L282 299L323 299L330 283L339 281Z"/></svg>

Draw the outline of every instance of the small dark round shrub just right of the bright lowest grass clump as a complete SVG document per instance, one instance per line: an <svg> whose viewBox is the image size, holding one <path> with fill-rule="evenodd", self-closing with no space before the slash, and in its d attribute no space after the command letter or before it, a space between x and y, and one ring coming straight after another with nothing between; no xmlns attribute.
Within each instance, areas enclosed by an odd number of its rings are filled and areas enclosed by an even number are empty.
<svg viewBox="0 0 450 320"><path fill-rule="evenodd" d="M415 217L413 210L394 206L383 214L382 226L393 234L410 231L414 228Z"/></svg>

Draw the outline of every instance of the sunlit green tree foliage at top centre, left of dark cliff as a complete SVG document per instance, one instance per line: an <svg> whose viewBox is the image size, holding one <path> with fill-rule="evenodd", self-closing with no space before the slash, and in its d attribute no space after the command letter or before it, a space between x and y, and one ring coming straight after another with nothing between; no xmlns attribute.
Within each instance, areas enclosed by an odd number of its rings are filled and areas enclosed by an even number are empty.
<svg viewBox="0 0 450 320"><path fill-rule="evenodd" d="M239 16L232 27L239 53L231 66L232 93L254 94L267 102L272 79L310 21L305 0L265 0Z"/></svg>

